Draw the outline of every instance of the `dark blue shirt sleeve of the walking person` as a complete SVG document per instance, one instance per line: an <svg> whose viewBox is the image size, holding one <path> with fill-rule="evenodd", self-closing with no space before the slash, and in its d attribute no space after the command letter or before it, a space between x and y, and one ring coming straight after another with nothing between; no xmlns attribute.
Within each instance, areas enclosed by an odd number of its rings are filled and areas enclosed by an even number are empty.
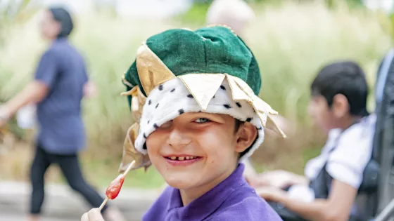
<svg viewBox="0 0 394 221"><path fill-rule="evenodd" d="M46 51L44 55L42 55L34 74L35 80L45 83L49 88L52 88L56 76L58 75L58 61L56 60L56 56L55 51Z"/></svg>

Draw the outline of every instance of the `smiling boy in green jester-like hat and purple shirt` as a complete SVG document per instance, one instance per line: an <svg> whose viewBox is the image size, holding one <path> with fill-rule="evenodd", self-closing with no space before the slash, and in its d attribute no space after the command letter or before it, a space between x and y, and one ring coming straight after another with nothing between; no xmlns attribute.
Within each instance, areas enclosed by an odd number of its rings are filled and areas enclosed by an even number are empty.
<svg viewBox="0 0 394 221"><path fill-rule="evenodd" d="M151 36L124 83L137 122L121 170L132 159L152 163L170 185L143 220L281 220L242 176L239 161L261 145L276 112L258 98L258 64L231 29ZM101 219L98 210L88 217Z"/></svg>

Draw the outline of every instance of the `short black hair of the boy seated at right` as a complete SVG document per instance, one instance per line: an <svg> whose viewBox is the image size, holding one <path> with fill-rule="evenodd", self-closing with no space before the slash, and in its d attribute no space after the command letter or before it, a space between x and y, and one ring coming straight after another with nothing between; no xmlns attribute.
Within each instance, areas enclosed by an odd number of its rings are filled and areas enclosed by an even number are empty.
<svg viewBox="0 0 394 221"><path fill-rule="evenodd" d="M329 107L333 97L344 95L353 116L366 116L368 85L362 68L352 61L334 62L323 67L311 85L312 96L322 95Z"/></svg>

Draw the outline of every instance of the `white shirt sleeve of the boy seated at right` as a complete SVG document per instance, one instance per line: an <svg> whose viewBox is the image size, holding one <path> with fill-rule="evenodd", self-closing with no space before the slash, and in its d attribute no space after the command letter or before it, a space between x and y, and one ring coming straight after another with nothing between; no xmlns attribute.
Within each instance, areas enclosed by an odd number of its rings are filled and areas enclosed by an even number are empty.
<svg viewBox="0 0 394 221"><path fill-rule="evenodd" d="M326 170L335 180L358 189L365 166L371 159L374 124L362 124L343 132L330 154Z"/></svg>

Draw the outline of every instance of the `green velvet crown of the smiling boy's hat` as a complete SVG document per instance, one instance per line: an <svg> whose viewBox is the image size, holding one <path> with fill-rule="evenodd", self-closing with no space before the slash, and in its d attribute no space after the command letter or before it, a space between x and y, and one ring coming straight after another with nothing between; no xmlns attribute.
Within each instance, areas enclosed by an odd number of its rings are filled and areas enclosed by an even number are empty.
<svg viewBox="0 0 394 221"><path fill-rule="evenodd" d="M239 77L258 95L261 76L258 63L248 46L228 27L170 29L146 40L148 48L175 76L196 73L227 73ZM127 91L139 86L146 95L134 61L125 73ZM128 84L129 84L128 83ZM131 96L129 96L129 105Z"/></svg>

